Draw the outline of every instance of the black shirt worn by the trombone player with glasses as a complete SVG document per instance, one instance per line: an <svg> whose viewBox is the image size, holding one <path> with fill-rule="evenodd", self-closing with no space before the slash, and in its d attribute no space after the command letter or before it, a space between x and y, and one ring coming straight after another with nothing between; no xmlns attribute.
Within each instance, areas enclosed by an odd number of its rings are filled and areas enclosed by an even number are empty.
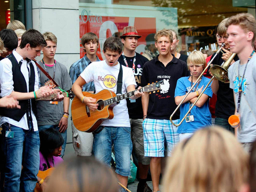
<svg viewBox="0 0 256 192"><path fill-rule="evenodd" d="M211 56L211 59L214 57L215 54ZM222 57L222 53L220 52L214 58L214 60L212 61L212 64L221 66L222 63L224 62L224 60L221 57ZM237 60L239 60L239 58L236 55L234 57L234 61L237 61ZM207 75L209 74L209 68L206 74ZM233 115L235 111L233 89L229 88L229 83L223 83L221 81L218 81L218 82L219 82L219 89L217 92L217 101L215 105L215 116L223 119L228 119L229 116Z"/></svg>

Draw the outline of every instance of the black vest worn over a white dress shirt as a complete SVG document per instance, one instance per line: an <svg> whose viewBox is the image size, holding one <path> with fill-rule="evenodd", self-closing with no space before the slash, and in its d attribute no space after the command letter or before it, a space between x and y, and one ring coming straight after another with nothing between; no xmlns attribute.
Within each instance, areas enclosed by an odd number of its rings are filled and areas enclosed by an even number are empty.
<svg viewBox="0 0 256 192"><path fill-rule="evenodd" d="M8 55L8 58L12 62L12 72L13 72L13 90L16 92L27 93L27 83L26 80L20 71L19 63L13 54ZM29 78L29 92L33 92L35 90L35 68L33 64L30 62L30 78ZM29 112L29 99L19 100L20 109L6 109L1 108L1 115L14 119L15 121L20 121L21 118L25 115L25 113ZM37 117L36 103L35 99L31 99L32 110ZM28 117L28 115L27 115ZM32 121L32 118L31 118Z"/></svg>

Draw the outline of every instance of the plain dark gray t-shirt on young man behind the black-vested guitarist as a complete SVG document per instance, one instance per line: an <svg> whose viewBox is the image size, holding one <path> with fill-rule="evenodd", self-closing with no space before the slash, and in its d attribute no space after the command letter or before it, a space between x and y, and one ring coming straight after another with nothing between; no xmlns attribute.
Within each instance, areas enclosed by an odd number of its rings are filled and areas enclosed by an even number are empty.
<svg viewBox="0 0 256 192"><path fill-rule="evenodd" d="M45 69L44 64L39 61L39 65ZM46 66L49 75L53 77L54 67ZM40 71L41 84L44 84L48 78ZM55 65L55 77L54 80L61 87L61 89L67 91L72 87L72 81L70 79L67 67L56 61ZM56 87L57 88L57 87ZM37 101L37 124L38 125L57 125L63 116L63 101L58 104L50 104L50 101Z"/></svg>

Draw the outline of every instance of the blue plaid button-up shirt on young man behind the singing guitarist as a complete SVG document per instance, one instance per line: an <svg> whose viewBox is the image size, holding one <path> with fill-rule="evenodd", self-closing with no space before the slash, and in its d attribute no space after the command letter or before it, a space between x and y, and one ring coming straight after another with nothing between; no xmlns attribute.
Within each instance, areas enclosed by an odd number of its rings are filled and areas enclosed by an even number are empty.
<svg viewBox="0 0 256 192"><path fill-rule="evenodd" d="M97 60L100 61L100 59L97 56ZM70 69L69 69L69 75L72 80L72 84L77 80L77 78L80 76L80 74L83 72L83 70L91 63L90 59L86 55L84 55L83 58L79 59L78 61L74 62ZM95 91L94 82L88 82L83 86L82 91Z"/></svg>

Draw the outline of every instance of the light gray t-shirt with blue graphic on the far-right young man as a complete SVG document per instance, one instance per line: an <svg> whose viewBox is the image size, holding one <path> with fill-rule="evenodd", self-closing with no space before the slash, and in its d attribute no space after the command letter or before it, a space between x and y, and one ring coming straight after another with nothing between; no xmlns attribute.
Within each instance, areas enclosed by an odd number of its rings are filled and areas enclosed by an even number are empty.
<svg viewBox="0 0 256 192"><path fill-rule="evenodd" d="M239 66L240 60L236 61L228 69L230 88L236 95L235 105L238 102L239 84L241 84L245 64ZM240 83L239 83L240 82ZM242 82L242 93L240 101L241 129L238 131L238 141L241 143L253 142L256 139L256 55L248 62Z"/></svg>

